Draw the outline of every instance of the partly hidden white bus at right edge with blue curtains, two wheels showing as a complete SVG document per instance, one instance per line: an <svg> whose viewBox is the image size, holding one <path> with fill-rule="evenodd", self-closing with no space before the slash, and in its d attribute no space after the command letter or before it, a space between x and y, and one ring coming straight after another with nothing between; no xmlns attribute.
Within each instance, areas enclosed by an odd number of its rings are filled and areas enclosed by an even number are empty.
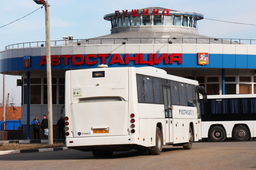
<svg viewBox="0 0 256 170"><path fill-rule="evenodd" d="M201 103L202 138L247 141L256 137L256 95L209 95Z"/></svg>

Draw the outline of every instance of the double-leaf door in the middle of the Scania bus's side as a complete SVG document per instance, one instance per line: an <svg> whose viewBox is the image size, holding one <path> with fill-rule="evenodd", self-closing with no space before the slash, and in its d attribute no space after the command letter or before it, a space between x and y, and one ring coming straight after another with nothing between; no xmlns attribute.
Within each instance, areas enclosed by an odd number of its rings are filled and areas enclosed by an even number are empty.
<svg viewBox="0 0 256 170"><path fill-rule="evenodd" d="M173 143L173 119L171 106L171 89L163 86L164 112L165 112L165 143Z"/></svg>

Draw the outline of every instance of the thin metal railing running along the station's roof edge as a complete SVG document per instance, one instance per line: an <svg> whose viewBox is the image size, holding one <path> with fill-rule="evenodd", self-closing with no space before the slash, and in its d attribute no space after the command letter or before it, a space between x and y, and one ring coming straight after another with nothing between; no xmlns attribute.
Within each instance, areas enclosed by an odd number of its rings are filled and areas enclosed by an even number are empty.
<svg viewBox="0 0 256 170"><path fill-rule="evenodd" d="M50 41L51 46L57 45L89 45L89 44L247 44L256 45L253 39L223 38L101 38ZM45 41L26 42L7 45L5 50L14 48L44 47Z"/></svg>

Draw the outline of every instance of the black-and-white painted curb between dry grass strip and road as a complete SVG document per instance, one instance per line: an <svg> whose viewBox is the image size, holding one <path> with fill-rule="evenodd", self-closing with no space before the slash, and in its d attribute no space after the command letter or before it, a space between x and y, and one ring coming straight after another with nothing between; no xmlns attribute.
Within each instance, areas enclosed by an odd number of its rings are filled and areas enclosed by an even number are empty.
<svg viewBox="0 0 256 170"><path fill-rule="evenodd" d="M50 151L59 151L59 150L67 150L67 149L68 149L68 147L44 148L44 149L24 149L24 150L4 150L4 151L0 151L0 155L16 154L16 153L50 152Z"/></svg>

